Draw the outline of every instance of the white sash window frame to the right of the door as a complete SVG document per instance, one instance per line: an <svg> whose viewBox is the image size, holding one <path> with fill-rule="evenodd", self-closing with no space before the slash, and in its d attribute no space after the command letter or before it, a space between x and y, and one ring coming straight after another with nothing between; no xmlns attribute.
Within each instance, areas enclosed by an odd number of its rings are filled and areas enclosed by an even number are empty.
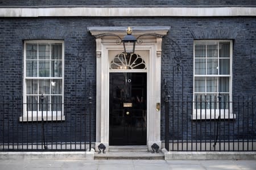
<svg viewBox="0 0 256 170"><path fill-rule="evenodd" d="M230 43L230 70L229 70L229 75L207 75L207 73L205 73L205 75L196 75L195 74L195 45L198 42L205 42L207 44L207 42L217 42L218 43L218 63L220 61L220 56L219 56L219 43L220 42L229 42ZM206 45L205 44L205 45ZM206 53L207 53L207 49L206 49ZM233 59L233 41L232 40L195 40L193 42L193 113L191 115L191 119L192 120L202 120L202 119L217 119L218 116L220 116L221 119L230 119L230 118L236 118L236 115L233 114L232 111L232 59ZM205 65L205 70L207 71L207 61L205 61L206 65ZM219 65L218 65L219 67ZM220 69L218 69L219 71ZM195 92L195 78L196 77L221 77L221 76L225 76L225 77L229 77L229 109L198 109L195 107L195 94L210 94L210 92ZM217 89L218 89L218 83L217 83ZM217 94L217 92L212 92L214 94ZM227 94L227 93L226 93ZM197 102L200 101L200 99L197 99ZM214 102L214 99L212 99L212 102ZM205 104L205 101L202 101L202 105ZM216 104L218 105L218 98L216 97Z"/></svg>

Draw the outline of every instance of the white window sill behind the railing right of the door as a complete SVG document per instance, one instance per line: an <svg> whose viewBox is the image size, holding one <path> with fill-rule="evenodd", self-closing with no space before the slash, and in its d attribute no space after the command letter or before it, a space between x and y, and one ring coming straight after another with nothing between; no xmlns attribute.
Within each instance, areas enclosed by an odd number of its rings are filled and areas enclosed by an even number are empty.
<svg viewBox="0 0 256 170"><path fill-rule="evenodd" d="M206 116L205 116L206 114ZM191 120L207 120L207 119L218 119L220 115L221 119L234 119L236 114L233 114L228 109L194 109L193 114L191 115Z"/></svg>

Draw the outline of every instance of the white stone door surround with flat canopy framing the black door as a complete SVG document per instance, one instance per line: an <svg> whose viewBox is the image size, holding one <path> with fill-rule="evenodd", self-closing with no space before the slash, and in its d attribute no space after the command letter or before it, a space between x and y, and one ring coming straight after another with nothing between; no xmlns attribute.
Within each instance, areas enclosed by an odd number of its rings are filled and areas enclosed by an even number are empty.
<svg viewBox="0 0 256 170"><path fill-rule="evenodd" d="M166 35L170 27L131 27L132 35L138 37L144 33L157 33ZM114 33L119 37L126 35L126 27L88 27L93 36L102 33ZM148 54L147 67L147 147L156 143L161 147L160 141L160 112L156 111L156 103L160 103L161 96L161 57L162 37L142 36L142 44L136 44L136 51L146 51ZM103 143L106 151L109 147L109 53L123 50L122 44L117 44L115 36L100 36L96 38L96 150Z"/></svg>

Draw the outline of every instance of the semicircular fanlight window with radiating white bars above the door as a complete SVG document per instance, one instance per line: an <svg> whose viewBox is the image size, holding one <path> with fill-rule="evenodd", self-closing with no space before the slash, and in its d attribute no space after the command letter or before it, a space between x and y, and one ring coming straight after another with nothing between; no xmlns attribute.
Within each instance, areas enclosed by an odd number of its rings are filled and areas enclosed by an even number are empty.
<svg viewBox="0 0 256 170"><path fill-rule="evenodd" d="M145 61L138 54L121 53L114 57L110 63L111 69L144 69Z"/></svg>

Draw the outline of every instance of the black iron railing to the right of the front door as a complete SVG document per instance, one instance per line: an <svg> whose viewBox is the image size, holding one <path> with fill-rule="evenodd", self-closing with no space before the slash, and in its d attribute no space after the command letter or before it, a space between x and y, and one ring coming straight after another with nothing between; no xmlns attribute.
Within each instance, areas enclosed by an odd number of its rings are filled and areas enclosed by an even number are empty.
<svg viewBox="0 0 256 170"><path fill-rule="evenodd" d="M168 151L256 151L255 97L220 96L164 97Z"/></svg>

